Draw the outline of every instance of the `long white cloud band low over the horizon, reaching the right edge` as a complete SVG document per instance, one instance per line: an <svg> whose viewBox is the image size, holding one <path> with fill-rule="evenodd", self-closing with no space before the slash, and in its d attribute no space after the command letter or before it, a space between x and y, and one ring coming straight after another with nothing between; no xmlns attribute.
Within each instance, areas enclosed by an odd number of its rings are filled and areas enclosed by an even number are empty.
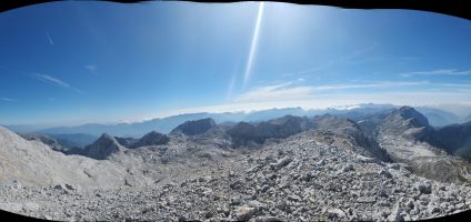
<svg viewBox="0 0 471 222"><path fill-rule="evenodd" d="M216 104L210 107L189 108L169 111L161 117L173 114L194 113L194 112L250 112L255 110L267 110L272 108L293 108L302 109L325 109L333 107L344 107L347 104L361 103L390 103L393 105L431 105L445 104L455 101L454 104L471 105L471 94L462 92L425 92L425 91L408 91L408 92L384 92L384 93L340 93L340 94L309 94L303 98L292 98L289 100L253 100L253 101L234 101L232 103ZM450 107L450 105L444 105ZM468 113L468 112L467 112Z"/></svg>

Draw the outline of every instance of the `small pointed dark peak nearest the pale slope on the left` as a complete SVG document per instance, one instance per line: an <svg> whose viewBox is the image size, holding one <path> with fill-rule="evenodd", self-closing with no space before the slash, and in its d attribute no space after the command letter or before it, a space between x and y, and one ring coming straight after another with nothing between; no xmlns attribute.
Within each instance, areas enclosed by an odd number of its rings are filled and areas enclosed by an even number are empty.
<svg viewBox="0 0 471 222"><path fill-rule="evenodd" d="M123 150L124 148L113 137L104 133L93 144L88 145L84 153L92 159L106 160L111 154L120 153Z"/></svg>

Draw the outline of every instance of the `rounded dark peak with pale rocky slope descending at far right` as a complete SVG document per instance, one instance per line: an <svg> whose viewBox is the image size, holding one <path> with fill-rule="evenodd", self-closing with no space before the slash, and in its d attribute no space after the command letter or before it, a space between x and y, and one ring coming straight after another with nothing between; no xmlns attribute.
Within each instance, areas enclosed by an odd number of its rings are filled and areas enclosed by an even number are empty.
<svg viewBox="0 0 471 222"><path fill-rule="evenodd" d="M413 108L402 107L384 119L378 141L394 161L411 165L419 175L445 182L471 182L470 163L429 144L432 133L427 118Z"/></svg>

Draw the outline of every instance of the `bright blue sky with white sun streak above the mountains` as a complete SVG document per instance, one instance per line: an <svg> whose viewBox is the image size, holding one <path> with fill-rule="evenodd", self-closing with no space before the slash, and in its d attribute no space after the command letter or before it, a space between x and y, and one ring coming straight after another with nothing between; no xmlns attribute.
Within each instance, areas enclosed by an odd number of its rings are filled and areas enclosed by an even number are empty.
<svg viewBox="0 0 471 222"><path fill-rule="evenodd" d="M66 1L2 12L0 30L0 124L471 104L471 22L433 12Z"/></svg>

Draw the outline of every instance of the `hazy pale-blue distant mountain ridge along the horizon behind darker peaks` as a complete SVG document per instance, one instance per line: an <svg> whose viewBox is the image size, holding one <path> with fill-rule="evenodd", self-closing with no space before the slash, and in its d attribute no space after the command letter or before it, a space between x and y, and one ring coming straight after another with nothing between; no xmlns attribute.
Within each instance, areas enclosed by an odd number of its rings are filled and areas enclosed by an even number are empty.
<svg viewBox="0 0 471 222"><path fill-rule="evenodd" d="M360 121L364 118L370 117L372 113L378 112L390 112L394 109L398 109L398 105L392 104L358 104L350 107L338 107L338 108L329 108L329 109L318 109L318 110L303 110L302 108L283 108L283 109L269 109L261 110L254 112L223 112L223 113L209 113L209 112L200 112L200 113L188 113L188 114L178 114L167 118L152 119L142 122L133 122L133 123L118 123L118 124L83 124L77 127L58 127L58 128L48 128L42 130L33 130L34 132L42 134L90 134L92 137L100 137L102 133L109 133L116 137L132 137L140 138L143 134L156 130L161 133L169 133L177 125L191 121L191 120L200 120L211 118L214 120L217 124L220 123L237 123L237 122L260 122L267 121L270 119L282 118L287 114L297 115L297 117L314 117L320 114L334 114L342 118L348 118L354 121ZM419 107L418 111L421 111L430 121L430 124L433 127L444 127L452 123L461 123L464 119L460 119L453 113L448 111L437 109L437 108L428 108L428 107ZM16 131L19 129L21 132L28 129L26 125L21 125L18 128L16 125L7 125L8 129ZM31 128L30 128L31 129ZM33 132L30 130L30 132ZM17 131L18 132L18 131ZM90 142L90 141L88 141ZM82 144L83 145L83 144Z"/></svg>

